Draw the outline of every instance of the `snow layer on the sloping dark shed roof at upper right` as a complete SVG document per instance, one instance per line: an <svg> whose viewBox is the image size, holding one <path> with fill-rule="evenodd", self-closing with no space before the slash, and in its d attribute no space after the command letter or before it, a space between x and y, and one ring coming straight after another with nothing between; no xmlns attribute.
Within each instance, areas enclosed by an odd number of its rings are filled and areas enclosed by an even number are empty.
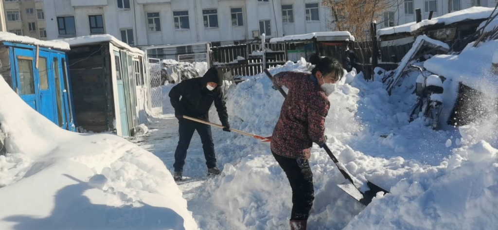
<svg viewBox="0 0 498 230"><path fill-rule="evenodd" d="M421 22L410 22L394 27L382 28L377 31L377 36L389 35L395 33L410 33L423 26L433 25L437 23L451 24L464 20L476 20L487 18L491 15L495 8L474 6L467 9L447 13L440 17L432 18L431 20L422 20Z"/></svg>

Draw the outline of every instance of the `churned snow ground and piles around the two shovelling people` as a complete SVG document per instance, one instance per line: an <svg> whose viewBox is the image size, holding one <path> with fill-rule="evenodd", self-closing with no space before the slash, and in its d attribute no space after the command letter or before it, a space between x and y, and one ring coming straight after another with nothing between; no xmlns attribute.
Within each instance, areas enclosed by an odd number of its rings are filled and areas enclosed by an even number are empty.
<svg viewBox="0 0 498 230"><path fill-rule="evenodd" d="M306 71L303 61L280 71ZM367 179L391 193L365 208L336 187L344 178L317 146L311 154L315 201L309 229L493 229L498 225L496 149L485 137L475 138L491 122L434 131L422 119L408 122L407 112L418 73L404 78L388 96L377 77L366 82L349 73L329 97L328 145L362 184ZM344 84L346 83L346 84ZM173 113L163 88L164 111ZM228 90L227 108L233 128L269 136L278 119L282 96L264 75L247 77ZM216 111L212 122L219 123ZM139 143L174 162L177 120L162 115ZM269 146L256 139L213 128L218 166L216 178L206 176L197 134L190 144L184 176L179 183L189 210L201 229L288 229L292 207L287 178Z"/></svg>

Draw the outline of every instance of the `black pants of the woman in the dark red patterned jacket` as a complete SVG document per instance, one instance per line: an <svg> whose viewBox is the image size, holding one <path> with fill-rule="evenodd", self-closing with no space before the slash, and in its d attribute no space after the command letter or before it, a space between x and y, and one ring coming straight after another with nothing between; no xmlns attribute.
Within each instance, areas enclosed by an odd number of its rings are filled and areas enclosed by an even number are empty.
<svg viewBox="0 0 498 230"><path fill-rule="evenodd" d="M271 152L289 179L292 188L292 214L290 220L308 220L315 191L313 190L313 173L309 161L293 159Z"/></svg>

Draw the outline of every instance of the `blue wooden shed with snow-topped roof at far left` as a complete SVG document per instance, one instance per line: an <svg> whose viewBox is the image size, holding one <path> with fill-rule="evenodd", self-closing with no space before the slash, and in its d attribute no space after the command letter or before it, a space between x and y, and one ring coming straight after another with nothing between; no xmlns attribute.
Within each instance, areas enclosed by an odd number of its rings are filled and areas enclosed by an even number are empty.
<svg viewBox="0 0 498 230"><path fill-rule="evenodd" d="M0 74L31 108L61 128L75 131L69 44L0 32Z"/></svg>

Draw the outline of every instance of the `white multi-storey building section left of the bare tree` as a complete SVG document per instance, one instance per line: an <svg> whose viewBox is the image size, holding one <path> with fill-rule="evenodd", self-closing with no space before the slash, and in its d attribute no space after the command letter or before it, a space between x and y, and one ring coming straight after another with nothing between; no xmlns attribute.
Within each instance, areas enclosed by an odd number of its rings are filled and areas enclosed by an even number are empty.
<svg viewBox="0 0 498 230"><path fill-rule="evenodd" d="M321 0L43 0L48 39L108 33L134 46L213 46L329 31Z"/></svg>

